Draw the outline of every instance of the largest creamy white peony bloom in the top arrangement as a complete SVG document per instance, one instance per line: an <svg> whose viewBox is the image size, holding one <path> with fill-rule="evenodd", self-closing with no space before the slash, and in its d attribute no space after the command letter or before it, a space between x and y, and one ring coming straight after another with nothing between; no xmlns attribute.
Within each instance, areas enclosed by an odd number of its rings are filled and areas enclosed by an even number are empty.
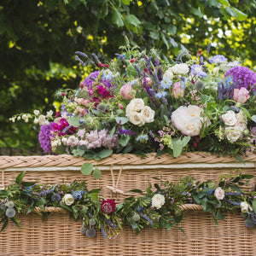
<svg viewBox="0 0 256 256"><path fill-rule="evenodd" d="M210 120L202 114L203 109L195 105L181 106L172 112L172 125L185 135L197 136L200 134L202 124L207 126L211 124Z"/></svg>

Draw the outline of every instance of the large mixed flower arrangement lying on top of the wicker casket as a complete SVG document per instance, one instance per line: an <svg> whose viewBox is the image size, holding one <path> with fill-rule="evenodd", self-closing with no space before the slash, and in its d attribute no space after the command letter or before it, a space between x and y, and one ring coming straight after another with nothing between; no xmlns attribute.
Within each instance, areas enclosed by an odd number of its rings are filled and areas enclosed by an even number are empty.
<svg viewBox="0 0 256 256"><path fill-rule="evenodd" d="M76 52L95 67L76 90L59 90L61 111L15 115L41 126L45 153L100 160L112 153L172 154L204 151L238 155L255 151L256 73L224 55L160 59L122 47L109 64ZM93 63L93 64L92 64Z"/></svg>

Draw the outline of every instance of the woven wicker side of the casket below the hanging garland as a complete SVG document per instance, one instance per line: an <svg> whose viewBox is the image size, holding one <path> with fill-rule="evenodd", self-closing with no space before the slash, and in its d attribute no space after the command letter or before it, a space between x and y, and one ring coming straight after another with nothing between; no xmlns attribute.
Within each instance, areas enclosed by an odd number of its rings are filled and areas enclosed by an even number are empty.
<svg viewBox="0 0 256 256"><path fill-rule="evenodd" d="M225 221L213 223L212 216L188 212L180 227L143 230L136 235L132 230L121 230L115 240L80 234L81 221L67 214L52 214L42 223L38 214L20 216L23 230L9 224L0 233L0 255L255 255L255 229L247 229L243 218L228 214Z"/></svg>

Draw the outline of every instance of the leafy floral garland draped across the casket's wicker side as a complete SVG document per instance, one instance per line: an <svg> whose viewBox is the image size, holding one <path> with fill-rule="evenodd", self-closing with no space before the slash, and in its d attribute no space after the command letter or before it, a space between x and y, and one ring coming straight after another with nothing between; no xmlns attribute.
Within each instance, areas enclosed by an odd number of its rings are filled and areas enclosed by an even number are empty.
<svg viewBox="0 0 256 256"><path fill-rule="evenodd" d="M61 207L74 219L82 219L82 234L93 237L96 230L101 230L109 239L116 238L125 225L137 233L147 227L170 230L183 219L180 206L188 203L201 205L204 212L212 212L216 225L217 219L224 219L224 212L241 212L248 228L256 224L256 186L255 183L253 187L245 186L253 175L242 174L239 170L221 175L217 184L199 183L189 176L180 178L177 183L155 177L154 189L152 184L145 191L133 189L131 192L140 195L126 198L119 205L99 196L101 189L89 191L84 181L49 186L26 182L24 175L25 172L21 172L12 184L0 190L1 231L9 219L20 226L17 213L28 214L35 207L43 210L43 220L49 215L45 207Z"/></svg>

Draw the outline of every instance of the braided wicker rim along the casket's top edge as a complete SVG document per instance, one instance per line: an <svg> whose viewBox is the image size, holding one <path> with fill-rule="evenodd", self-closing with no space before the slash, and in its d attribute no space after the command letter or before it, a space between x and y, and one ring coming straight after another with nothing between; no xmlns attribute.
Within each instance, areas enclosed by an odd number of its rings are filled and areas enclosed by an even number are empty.
<svg viewBox="0 0 256 256"><path fill-rule="evenodd" d="M256 161L256 154L247 154L244 161ZM110 157L100 160L84 160L83 157L75 157L70 154L44 155L44 156L0 156L0 169L9 167L37 167L37 166L82 166L84 162L94 162L96 165L167 165L174 163L230 163L237 162L236 158L216 155L203 152L183 153L177 158L169 154L163 154L155 158L155 154L147 154L147 157L141 159L141 156L135 154L112 154Z"/></svg>

